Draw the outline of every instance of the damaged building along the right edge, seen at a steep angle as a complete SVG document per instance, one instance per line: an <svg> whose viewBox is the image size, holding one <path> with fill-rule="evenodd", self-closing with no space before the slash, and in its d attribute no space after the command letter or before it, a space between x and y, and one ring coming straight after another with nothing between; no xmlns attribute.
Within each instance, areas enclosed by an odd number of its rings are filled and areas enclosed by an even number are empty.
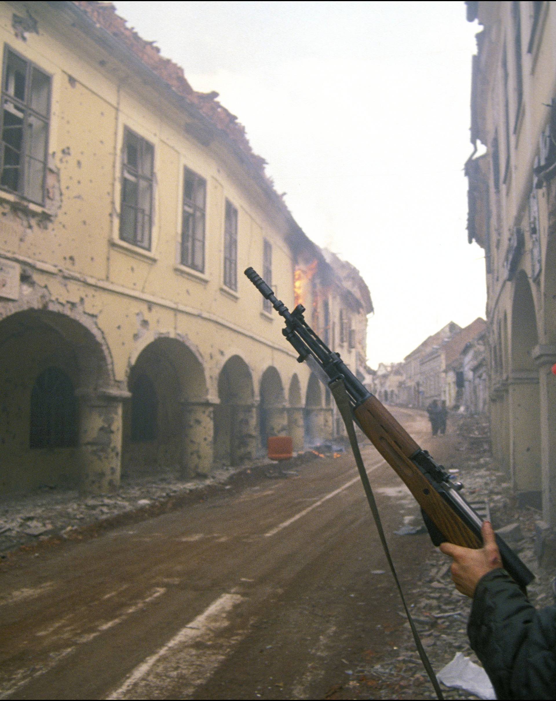
<svg viewBox="0 0 556 701"><path fill-rule="evenodd" d="M521 501L554 528L556 6L468 2L467 12L482 25L466 174L468 237L487 265L492 444Z"/></svg>

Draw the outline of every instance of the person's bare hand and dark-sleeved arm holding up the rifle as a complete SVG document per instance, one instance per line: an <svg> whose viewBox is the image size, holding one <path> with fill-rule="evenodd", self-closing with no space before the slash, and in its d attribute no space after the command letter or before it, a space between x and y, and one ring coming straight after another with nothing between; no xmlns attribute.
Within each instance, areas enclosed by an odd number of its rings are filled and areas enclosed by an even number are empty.
<svg viewBox="0 0 556 701"><path fill-rule="evenodd" d="M473 597L468 622L471 647L499 699L556 697L556 608L536 611L501 569L491 524L482 528L479 550L442 543L456 588Z"/></svg>

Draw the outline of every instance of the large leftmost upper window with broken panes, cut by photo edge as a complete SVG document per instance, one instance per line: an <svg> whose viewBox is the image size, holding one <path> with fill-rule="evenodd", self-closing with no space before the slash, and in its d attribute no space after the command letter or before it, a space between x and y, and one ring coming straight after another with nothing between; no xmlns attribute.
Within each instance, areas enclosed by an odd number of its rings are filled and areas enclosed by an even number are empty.
<svg viewBox="0 0 556 701"><path fill-rule="evenodd" d="M2 76L0 186L44 203L51 78L7 46Z"/></svg>

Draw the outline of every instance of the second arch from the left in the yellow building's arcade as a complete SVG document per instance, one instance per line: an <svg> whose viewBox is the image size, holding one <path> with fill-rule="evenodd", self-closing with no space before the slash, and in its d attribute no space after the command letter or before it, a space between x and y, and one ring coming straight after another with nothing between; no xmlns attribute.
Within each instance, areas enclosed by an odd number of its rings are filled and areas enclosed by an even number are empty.
<svg viewBox="0 0 556 701"><path fill-rule="evenodd" d="M212 411L196 353L170 336L143 343L128 374L128 390L131 397L123 412L126 473L208 472Z"/></svg>

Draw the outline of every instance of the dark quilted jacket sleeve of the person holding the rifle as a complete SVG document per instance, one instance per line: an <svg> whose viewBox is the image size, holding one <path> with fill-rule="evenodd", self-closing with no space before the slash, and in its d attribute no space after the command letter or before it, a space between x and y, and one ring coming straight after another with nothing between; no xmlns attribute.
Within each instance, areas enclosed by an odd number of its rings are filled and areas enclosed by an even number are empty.
<svg viewBox="0 0 556 701"><path fill-rule="evenodd" d="M499 699L556 698L556 606L536 611L496 569L477 584L468 635Z"/></svg>

